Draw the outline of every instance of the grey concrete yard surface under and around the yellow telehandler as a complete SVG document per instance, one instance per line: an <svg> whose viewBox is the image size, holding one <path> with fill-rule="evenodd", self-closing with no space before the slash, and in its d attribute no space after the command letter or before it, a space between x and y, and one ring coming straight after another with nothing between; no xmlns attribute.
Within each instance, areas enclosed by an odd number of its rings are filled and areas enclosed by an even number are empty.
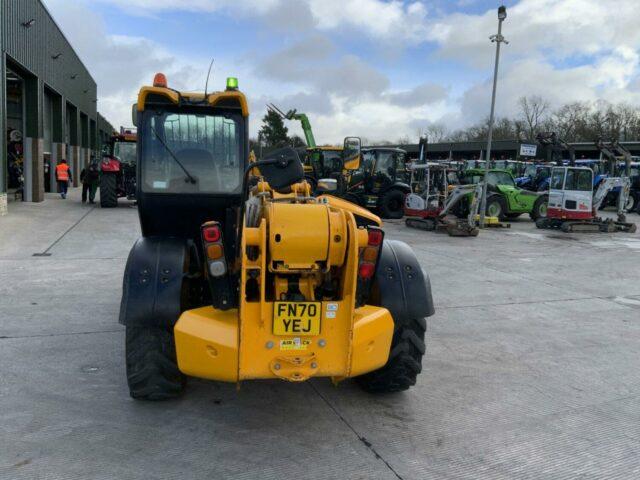
<svg viewBox="0 0 640 480"><path fill-rule="evenodd" d="M0 478L640 478L640 234L541 231L526 216L478 238L386 232L433 286L414 388L189 379L179 400L144 403L128 394L118 324L135 206L82 205L78 189L12 203Z"/></svg>

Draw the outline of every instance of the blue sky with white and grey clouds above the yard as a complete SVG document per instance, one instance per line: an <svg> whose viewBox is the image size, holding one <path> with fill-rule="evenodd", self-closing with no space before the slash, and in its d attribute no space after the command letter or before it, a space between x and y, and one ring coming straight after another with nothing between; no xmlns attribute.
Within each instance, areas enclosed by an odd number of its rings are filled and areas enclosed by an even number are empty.
<svg viewBox="0 0 640 480"><path fill-rule="evenodd" d="M640 105L638 0L505 2L498 115L517 99ZM100 111L130 124L140 85L239 78L257 132L265 103L311 118L319 143L416 137L488 115L499 2L489 0L45 0L98 83ZM615 8L612 8L615 5ZM210 87L211 88L211 87ZM289 125L291 131L299 130Z"/></svg>

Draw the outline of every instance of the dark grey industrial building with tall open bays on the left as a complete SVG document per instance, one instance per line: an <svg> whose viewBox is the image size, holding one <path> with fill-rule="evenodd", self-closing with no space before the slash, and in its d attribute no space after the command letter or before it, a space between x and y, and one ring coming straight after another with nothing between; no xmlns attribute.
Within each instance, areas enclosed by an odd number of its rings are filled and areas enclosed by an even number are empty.
<svg viewBox="0 0 640 480"><path fill-rule="evenodd" d="M96 82L39 0L0 2L0 209L41 202L64 158L80 170L113 127L97 112ZM24 180L20 178L22 173Z"/></svg>

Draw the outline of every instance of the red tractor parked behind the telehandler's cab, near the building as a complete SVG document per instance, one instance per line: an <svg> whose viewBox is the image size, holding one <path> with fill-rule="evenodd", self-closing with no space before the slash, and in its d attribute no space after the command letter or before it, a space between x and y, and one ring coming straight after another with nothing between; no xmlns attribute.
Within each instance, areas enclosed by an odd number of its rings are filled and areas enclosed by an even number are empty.
<svg viewBox="0 0 640 480"><path fill-rule="evenodd" d="M100 206L115 208L118 198L136 198L137 134L134 128L120 127L105 146L100 162Z"/></svg>

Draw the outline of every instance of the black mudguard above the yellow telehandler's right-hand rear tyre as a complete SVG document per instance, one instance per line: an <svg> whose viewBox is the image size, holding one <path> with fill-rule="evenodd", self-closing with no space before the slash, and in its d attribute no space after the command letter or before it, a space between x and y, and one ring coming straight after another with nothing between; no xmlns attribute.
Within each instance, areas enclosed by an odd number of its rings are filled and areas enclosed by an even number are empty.
<svg viewBox="0 0 640 480"><path fill-rule="evenodd" d="M435 313L429 275L406 243L382 243L372 299L396 319L425 318Z"/></svg>

